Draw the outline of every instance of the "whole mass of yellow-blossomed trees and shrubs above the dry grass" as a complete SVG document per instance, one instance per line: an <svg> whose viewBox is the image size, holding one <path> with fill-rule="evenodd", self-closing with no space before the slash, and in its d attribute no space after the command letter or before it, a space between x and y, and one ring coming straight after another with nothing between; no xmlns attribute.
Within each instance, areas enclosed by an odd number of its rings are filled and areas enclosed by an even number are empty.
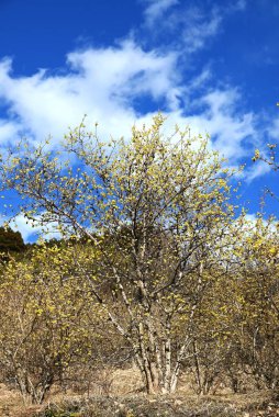
<svg viewBox="0 0 279 417"><path fill-rule="evenodd" d="M2 272L0 360L34 401L105 362L135 363L149 394L181 372L199 394L278 388L275 221L236 216L208 138L163 129L102 143L82 123L60 156L21 143L0 168L21 213L64 236Z"/></svg>

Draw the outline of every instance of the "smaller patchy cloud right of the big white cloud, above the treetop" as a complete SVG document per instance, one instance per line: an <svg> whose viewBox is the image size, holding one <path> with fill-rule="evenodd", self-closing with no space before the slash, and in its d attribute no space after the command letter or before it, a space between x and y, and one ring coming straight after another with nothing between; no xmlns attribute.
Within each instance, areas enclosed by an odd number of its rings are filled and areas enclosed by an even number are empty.
<svg viewBox="0 0 279 417"><path fill-rule="evenodd" d="M241 99L234 89L216 89L192 100L194 114L188 115L185 109L169 113L168 125L189 126L192 136L210 135L212 147L231 165L237 165L242 158L253 157L250 144L257 137L256 116L237 111ZM192 109L189 108L189 112Z"/></svg>

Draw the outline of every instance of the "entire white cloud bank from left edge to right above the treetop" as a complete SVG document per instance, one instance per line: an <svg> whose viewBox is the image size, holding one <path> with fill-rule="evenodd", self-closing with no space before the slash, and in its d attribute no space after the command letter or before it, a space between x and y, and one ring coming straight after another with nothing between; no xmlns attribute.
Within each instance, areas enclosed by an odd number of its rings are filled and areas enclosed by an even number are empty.
<svg viewBox="0 0 279 417"><path fill-rule="evenodd" d="M4 59L0 64L0 98L9 103L11 119L0 120L0 143L9 136L18 138L21 132L35 140L49 134L60 139L67 126L79 124L86 113L92 125L100 122L102 138L129 137L136 121L148 123L153 115L135 110L134 101L146 97L166 103L171 127L190 125L192 134L209 133L214 147L231 164L237 164L250 151L247 140L256 137L255 115L237 112L241 94L233 88L204 92L209 69L181 84L177 59L174 52L145 52L132 41L118 47L72 52L59 75L40 70L16 78L12 63ZM258 168L257 174L260 172ZM255 174L250 172L252 178Z"/></svg>

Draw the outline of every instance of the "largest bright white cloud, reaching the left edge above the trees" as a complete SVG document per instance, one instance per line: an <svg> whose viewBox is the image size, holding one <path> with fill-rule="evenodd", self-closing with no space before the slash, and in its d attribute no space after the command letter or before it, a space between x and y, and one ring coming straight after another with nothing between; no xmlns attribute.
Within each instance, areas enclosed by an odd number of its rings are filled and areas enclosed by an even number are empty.
<svg viewBox="0 0 279 417"><path fill-rule="evenodd" d="M174 109L179 87L176 56L144 52L129 41L119 47L77 50L67 57L67 71L13 77L11 61L0 64L0 98L9 104L16 123L0 121L0 139L25 131L35 139L48 134L62 137L87 113L101 123L103 135L123 135L137 119L133 100L146 94L165 99Z"/></svg>

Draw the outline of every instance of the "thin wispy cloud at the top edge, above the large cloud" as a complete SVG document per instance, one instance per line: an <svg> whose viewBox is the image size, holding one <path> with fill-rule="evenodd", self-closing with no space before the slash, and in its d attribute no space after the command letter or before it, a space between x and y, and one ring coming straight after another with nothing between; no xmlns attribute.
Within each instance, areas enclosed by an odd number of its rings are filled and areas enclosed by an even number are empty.
<svg viewBox="0 0 279 417"><path fill-rule="evenodd" d="M161 47L167 45L188 56L210 45L222 32L224 20L246 9L246 0L235 2L197 2L179 0L142 0L144 10L143 37L159 40Z"/></svg>

